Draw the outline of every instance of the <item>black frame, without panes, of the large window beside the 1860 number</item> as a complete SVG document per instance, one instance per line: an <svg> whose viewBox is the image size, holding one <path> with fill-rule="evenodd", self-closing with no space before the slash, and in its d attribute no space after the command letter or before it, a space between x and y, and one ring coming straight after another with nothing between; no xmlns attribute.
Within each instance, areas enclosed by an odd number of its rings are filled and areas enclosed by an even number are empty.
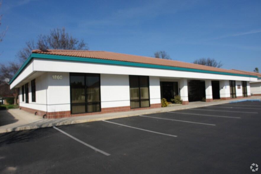
<svg viewBox="0 0 261 174"><path fill-rule="evenodd" d="M87 102L87 86L86 86L86 76L87 75L99 75L99 102ZM72 103L72 89L71 89L71 76L83 76L84 77L84 103ZM77 72L70 72L70 112L71 114L84 114L84 113L92 113L88 112L88 104L99 104L99 111L94 111L94 112L101 112L102 111L102 104L101 104L101 74L97 73L77 73ZM80 112L80 113L72 113L72 106L74 105L85 105L85 111L86 112Z"/></svg>

